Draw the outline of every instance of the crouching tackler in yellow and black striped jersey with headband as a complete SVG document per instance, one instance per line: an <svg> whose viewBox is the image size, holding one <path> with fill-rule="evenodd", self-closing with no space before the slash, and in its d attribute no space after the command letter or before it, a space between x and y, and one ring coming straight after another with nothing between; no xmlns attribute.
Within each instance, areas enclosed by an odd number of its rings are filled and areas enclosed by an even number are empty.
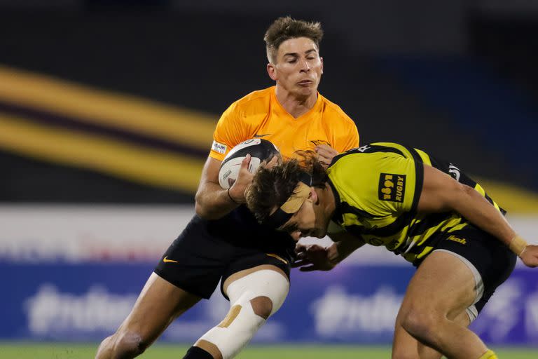
<svg viewBox="0 0 538 359"><path fill-rule="evenodd" d="M329 270L365 243L385 245L418 266L396 318L393 358L497 358L467 329L518 255L538 265L504 210L457 166L425 151L380 142L333 158L262 168L247 191L258 221L322 238L335 222L340 242L299 246L303 271ZM334 233L331 238L337 238Z"/></svg>

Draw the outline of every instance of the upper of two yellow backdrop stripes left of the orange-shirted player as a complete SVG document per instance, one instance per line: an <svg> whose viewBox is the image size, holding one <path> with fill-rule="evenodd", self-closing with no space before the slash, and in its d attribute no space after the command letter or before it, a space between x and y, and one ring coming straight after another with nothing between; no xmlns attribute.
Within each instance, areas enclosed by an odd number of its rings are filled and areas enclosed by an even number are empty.
<svg viewBox="0 0 538 359"><path fill-rule="evenodd" d="M0 66L0 100L207 149L218 116Z"/></svg>

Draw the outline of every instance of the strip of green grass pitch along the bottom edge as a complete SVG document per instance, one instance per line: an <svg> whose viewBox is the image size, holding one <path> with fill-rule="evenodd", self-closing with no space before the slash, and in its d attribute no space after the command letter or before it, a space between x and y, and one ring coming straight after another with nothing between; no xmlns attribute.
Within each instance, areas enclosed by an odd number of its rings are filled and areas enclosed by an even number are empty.
<svg viewBox="0 0 538 359"><path fill-rule="evenodd" d="M156 344L139 358L142 359L177 359L181 358L188 346ZM2 359L88 359L94 358L97 344L73 343L1 343ZM538 348L493 348L501 359L537 359ZM301 346L274 345L248 346L237 359L389 359L388 346L319 346L304 344Z"/></svg>

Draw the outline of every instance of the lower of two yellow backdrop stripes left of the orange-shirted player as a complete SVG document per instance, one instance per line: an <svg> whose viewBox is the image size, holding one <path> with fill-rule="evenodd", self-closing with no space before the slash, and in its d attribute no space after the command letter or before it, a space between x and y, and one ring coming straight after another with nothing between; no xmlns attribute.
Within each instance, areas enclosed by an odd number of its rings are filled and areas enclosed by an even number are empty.
<svg viewBox="0 0 538 359"><path fill-rule="evenodd" d="M167 189L195 191L204 165L203 160L181 154L41 126L1 112L0 128L0 149Z"/></svg>

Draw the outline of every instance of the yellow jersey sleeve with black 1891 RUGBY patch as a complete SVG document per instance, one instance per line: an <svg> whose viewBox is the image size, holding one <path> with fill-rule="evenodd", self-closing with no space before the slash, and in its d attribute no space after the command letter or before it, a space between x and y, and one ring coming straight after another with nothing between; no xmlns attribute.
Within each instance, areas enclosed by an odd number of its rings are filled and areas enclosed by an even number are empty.
<svg viewBox="0 0 538 359"><path fill-rule="evenodd" d="M345 176L340 183L347 203L373 216L411 212L417 208L424 177L421 162L384 153L349 157L340 171L340 177Z"/></svg>

